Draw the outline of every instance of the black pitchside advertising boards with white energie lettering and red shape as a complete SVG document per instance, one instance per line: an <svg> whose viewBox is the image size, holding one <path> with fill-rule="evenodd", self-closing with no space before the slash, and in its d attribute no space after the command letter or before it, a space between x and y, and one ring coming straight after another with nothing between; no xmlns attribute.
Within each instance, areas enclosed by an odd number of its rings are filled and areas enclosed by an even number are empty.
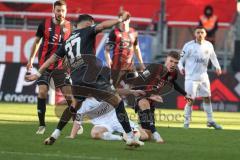
<svg viewBox="0 0 240 160"><path fill-rule="evenodd" d="M34 68L33 70L36 70ZM36 103L37 87L35 82L26 82L24 76L26 68L21 63L0 63L0 101ZM225 73L217 77L210 72L212 105L217 111L240 111L240 72ZM184 86L184 78L179 76L178 83ZM56 92L56 101L63 101L62 95ZM172 89L163 95L164 103L156 104L159 108L183 109L185 105L184 97ZM202 101L196 100L194 109L202 109Z"/></svg>

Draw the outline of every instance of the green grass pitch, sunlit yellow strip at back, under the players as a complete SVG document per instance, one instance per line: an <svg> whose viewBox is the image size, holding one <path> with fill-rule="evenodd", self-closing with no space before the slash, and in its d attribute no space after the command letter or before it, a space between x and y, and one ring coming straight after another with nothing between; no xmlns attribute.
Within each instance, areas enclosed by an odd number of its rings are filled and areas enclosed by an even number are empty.
<svg viewBox="0 0 240 160"><path fill-rule="evenodd" d="M129 110L133 119L135 117ZM55 108L47 108L47 130L44 135L35 135L37 129L36 106L28 104L0 104L0 159L1 160L206 160L239 159L240 157L240 113L216 112L215 119L225 130L206 128L203 112L193 114L193 129L182 129L182 111L158 111L158 131L165 144L146 142L145 146L129 149L124 142L92 140L90 124L84 125L84 134L76 139L66 139L71 124L53 146L43 145L43 140L51 134L58 118ZM165 116L165 117L164 117ZM177 116L178 118L172 118ZM166 118L168 117L168 118Z"/></svg>

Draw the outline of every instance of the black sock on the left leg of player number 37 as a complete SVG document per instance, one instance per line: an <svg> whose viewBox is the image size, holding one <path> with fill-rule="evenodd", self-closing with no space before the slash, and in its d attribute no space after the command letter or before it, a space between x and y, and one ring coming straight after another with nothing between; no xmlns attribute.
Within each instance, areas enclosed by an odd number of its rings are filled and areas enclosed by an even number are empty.
<svg viewBox="0 0 240 160"><path fill-rule="evenodd" d="M72 106L67 107L58 122L57 129L60 131L65 127L65 125L68 123L68 121L71 119L71 117L76 114L76 109Z"/></svg>

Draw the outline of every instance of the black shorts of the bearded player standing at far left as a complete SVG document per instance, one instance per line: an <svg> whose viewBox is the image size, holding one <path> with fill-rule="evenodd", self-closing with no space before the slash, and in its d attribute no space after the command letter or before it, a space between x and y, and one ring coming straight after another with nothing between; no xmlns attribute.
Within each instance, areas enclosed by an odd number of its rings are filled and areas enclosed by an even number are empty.
<svg viewBox="0 0 240 160"><path fill-rule="evenodd" d="M66 85L65 79L67 74L65 70L46 70L43 74L38 78L38 85L47 85L49 86L51 78L53 78L54 86L56 88L62 87Z"/></svg>

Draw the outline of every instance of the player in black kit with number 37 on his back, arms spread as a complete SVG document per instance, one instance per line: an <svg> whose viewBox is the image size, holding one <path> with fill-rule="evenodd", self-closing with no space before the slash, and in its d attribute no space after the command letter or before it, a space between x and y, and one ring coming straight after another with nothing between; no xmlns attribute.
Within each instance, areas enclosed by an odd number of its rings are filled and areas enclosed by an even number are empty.
<svg viewBox="0 0 240 160"><path fill-rule="evenodd" d="M123 12L122 17L117 20L108 20L94 25L93 17L86 14L80 15L77 24L78 29L65 41L61 49L41 66L37 74L26 75L27 80L36 80L50 64L64 56L67 56L71 67L73 95L78 101L63 112L57 129L52 133L51 137L46 139L45 144L54 143L72 114L76 113L76 109L85 99L84 97L92 96L104 100L116 108L117 118L128 135L127 145L144 145L133 134L122 99L110 84L109 78L101 73L101 61L95 57L94 49L96 35L99 32L125 21L129 16L128 12Z"/></svg>

